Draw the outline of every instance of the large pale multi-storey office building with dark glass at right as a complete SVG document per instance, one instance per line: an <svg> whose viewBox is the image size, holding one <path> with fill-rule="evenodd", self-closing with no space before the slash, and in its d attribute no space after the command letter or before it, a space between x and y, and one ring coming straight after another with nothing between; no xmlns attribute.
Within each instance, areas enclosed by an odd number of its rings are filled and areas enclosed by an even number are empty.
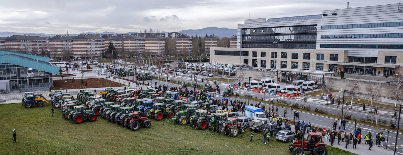
<svg viewBox="0 0 403 155"><path fill-rule="evenodd" d="M387 4L247 19L238 24L237 48L212 48L211 61L392 76L403 65L402 8Z"/></svg>

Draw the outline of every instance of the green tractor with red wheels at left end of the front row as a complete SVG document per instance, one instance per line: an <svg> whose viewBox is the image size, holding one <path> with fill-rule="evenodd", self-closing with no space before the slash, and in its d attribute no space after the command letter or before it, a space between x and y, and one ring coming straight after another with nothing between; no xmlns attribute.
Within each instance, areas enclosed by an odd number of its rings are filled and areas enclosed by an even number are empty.
<svg viewBox="0 0 403 155"><path fill-rule="evenodd" d="M76 124L82 123L84 120L93 122L97 120L97 116L91 110L85 110L83 105L73 106L73 111L69 114L70 121Z"/></svg>

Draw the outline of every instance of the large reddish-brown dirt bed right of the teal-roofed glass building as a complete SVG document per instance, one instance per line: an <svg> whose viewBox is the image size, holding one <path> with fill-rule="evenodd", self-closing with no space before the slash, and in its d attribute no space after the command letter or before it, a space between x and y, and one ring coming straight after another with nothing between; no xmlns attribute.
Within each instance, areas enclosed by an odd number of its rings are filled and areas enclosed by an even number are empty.
<svg viewBox="0 0 403 155"><path fill-rule="evenodd" d="M83 84L80 84L81 79L74 79L74 82L72 79L68 79L68 80L53 80L54 90L62 89L64 81L67 81L67 89L126 86L124 84L120 84L103 78L83 79ZM66 83L64 83L64 85L66 85Z"/></svg>

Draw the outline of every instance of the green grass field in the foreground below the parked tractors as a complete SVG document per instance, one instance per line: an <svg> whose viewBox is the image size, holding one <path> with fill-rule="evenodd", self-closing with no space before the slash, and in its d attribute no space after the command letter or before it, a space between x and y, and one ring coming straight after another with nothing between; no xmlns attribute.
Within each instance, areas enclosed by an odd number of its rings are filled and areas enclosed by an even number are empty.
<svg viewBox="0 0 403 155"><path fill-rule="evenodd" d="M151 128L131 131L98 117L74 124L50 105L26 109L0 104L0 154L275 154L291 155L289 143L263 144L262 133L249 142L249 129L237 137L181 126L169 119L151 120ZM17 143L12 143L12 129ZM329 155L352 153L330 148Z"/></svg>

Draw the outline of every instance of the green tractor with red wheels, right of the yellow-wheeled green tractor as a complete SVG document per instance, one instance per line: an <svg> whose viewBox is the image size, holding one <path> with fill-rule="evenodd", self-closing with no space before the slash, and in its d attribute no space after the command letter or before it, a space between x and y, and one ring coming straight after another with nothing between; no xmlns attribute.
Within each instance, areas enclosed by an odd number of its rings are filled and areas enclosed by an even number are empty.
<svg viewBox="0 0 403 155"><path fill-rule="evenodd" d="M196 110L192 116L190 116L189 124L193 128L204 130L208 127L208 122L213 116L214 115L212 114L208 114L207 110L199 109Z"/></svg>

